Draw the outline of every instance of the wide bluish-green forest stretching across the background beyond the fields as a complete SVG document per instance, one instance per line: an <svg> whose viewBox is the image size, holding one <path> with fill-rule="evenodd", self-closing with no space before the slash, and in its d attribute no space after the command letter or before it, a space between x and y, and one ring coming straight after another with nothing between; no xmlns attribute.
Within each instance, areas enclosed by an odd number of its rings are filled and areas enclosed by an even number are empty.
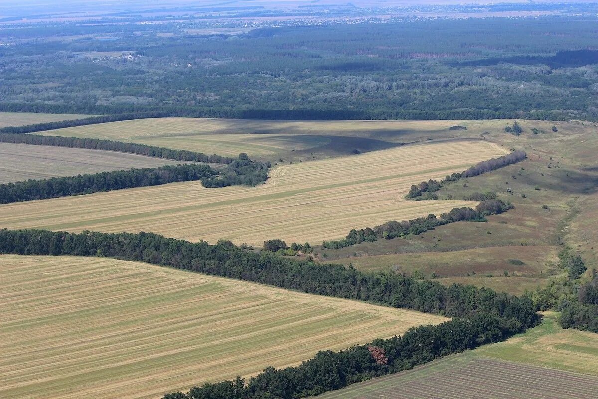
<svg viewBox="0 0 598 399"><path fill-rule="evenodd" d="M405 18L209 36L184 23L7 28L0 109L596 120L595 31L595 16ZM39 45L47 36L57 39Z"/></svg>

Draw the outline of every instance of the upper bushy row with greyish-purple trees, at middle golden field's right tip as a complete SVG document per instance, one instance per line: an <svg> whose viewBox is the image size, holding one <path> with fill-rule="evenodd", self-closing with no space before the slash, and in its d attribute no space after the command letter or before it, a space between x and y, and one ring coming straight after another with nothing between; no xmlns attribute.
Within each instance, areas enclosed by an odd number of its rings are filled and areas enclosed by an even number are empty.
<svg viewBox="0 0 598 399"><path fill-rule="evenodd" d="M481 175L482 173L490 172L490 170L496 170L503 166L511 165L526 159L526 152L521 150L513 151L510 154L492 158L487 161L478 162L476 165L469 167L467 170L463 170L461 173L452 173L447 175L441 181L429 179L428 181L422 181L419 184L411 185L411 188L405 198L418 200L434 200L438 199L436 194L431 194L434 191L440 190L440 187L453 181L458 181L461 178L468 178L472 176Z"/></svg>

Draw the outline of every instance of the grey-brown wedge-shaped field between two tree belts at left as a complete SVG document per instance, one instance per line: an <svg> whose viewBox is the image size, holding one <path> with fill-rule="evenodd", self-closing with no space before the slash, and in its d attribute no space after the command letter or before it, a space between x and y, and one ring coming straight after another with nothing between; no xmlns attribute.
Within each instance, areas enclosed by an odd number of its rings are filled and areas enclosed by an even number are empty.
<svg viewBox="0 0 598 399"><path fill-rule="evenodd" d="M116 151L0 142L0 183L185 163Z"/></svg>

